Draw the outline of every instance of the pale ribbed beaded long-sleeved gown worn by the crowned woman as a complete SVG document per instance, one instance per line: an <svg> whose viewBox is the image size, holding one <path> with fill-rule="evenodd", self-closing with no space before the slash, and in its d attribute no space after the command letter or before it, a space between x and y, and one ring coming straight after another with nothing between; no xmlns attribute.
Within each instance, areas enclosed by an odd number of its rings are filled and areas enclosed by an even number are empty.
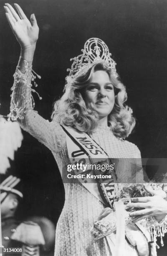
<svg viewBox="0 0 167 256"><path fill-rule="evenodd" d="M60 172L64 164L70 164L66 136L58 123L43 119L33 110L31 100L30 72L15 73L11 113L19 110L22 128L47 146ZM91 137L111 158L140 158L137 146L116 138L108 127L100 126ZM118 174L119 177L119 174ZM56 227L55 256L110 256L105 238L94 241L91 226L97 220L104 205L81 183L64 184L65 203ZM129 254L130 255L130 254ZM137 253L132 249L131 255Z"/></svg>

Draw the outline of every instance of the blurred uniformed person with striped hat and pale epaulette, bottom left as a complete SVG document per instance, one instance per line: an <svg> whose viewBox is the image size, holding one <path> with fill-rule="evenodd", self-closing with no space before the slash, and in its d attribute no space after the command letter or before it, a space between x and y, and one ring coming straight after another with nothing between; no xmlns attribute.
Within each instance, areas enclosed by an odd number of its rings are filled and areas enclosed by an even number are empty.
<svg viewBox="0 0 167 256"><path fill-rule="evenodd" d="M3 178L2 175L0 178ZM16 210L23 199L21 183L13 175L8 175L0 183L3 255L18 253L28 256L34 253L39 256L39 246L45 244L40 227L32 221L23 222L17 219Z"/></svg>

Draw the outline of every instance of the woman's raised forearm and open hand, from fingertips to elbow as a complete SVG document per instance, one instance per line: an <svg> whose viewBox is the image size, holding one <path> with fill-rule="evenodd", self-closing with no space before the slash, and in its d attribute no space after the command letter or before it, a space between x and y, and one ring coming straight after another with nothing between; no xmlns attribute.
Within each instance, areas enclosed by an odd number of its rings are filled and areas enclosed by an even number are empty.
<svg viewBox="0 0 167 256"><path fill-rule="evenodd" d="M5 4L4 8L10 28L21 47L20 59L14 74L9 115L11 119L17 120L23 119L25 110L33 109L31 97L32 63L39 28L35 15L31 15L30 22L18 4L15 4L18 13L10 4Z"/></svg>

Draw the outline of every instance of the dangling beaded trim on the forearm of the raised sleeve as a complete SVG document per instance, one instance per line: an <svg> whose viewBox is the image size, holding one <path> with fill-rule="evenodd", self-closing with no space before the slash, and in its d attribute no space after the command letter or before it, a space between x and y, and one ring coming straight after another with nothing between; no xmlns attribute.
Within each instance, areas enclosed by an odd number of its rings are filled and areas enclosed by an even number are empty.
<svg viewBox="0 0 167 256"><path fill-rule="evenodd" d="M25 72L22 73L19 70L19 66L17 66L15 74L13 75L14 84L13 84L13 87L11 87L12 94L10 95L10 97L11 97L10 113L7 115L8 121L9 120L16 121L18 118L21 120L24 118L23 113L26 113L26 111L25 111L26 106L19 108L19 102L15 102L15 93L17 90L18 83L22 83L22 84L26 85L27 87L29 87L31 92L35 92L38 95L39 99L42 100L42 97L40 97L38 92L36 92L35 89L32 88L33 85L35 87L38 86L38 84L35 82L35 78L38 77L40 79L41 77L33 71L32 65L30 65L28 63L28 61L25 61L25 60L23 60L23 61L25 62ZM24 95L22 95L22 97L25 98ZM35 107L35 102L34 102L32 95L30 98L25 99L25 103L32 105L32 109Z"/></svg>

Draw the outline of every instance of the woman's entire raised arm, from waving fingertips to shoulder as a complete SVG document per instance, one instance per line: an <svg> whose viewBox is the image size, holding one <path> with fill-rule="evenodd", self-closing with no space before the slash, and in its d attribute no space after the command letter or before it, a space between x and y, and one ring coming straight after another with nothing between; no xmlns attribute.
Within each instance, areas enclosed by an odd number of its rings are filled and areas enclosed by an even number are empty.
<svg viewBox="0 0 167 256"><path fill-rule="evenodd" d="M10 4L4 6L8 23L21 46L20 59L14 74L9 119L20 121L22 128L52 151L60 151L65 136L60 125L48 122L33 111L34 102L31 92L35 75L32 74L32 62L38 40L39 28L32 14L30 21L19 5L18 13ZM35 85L35 83L34 83Z"/></svg>

